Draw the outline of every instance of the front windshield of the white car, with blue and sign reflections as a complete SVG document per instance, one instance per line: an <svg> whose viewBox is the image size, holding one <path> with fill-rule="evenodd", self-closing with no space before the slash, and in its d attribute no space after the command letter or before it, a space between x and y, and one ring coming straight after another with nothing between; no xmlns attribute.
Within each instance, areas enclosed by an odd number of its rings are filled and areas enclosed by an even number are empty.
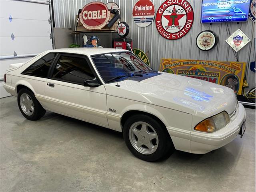
<svg viewBox="0 0 256 192"><path fill-rule="evenodd" d="M106 83L154 72L131 52L95 55L92 60Z"/></svg>

